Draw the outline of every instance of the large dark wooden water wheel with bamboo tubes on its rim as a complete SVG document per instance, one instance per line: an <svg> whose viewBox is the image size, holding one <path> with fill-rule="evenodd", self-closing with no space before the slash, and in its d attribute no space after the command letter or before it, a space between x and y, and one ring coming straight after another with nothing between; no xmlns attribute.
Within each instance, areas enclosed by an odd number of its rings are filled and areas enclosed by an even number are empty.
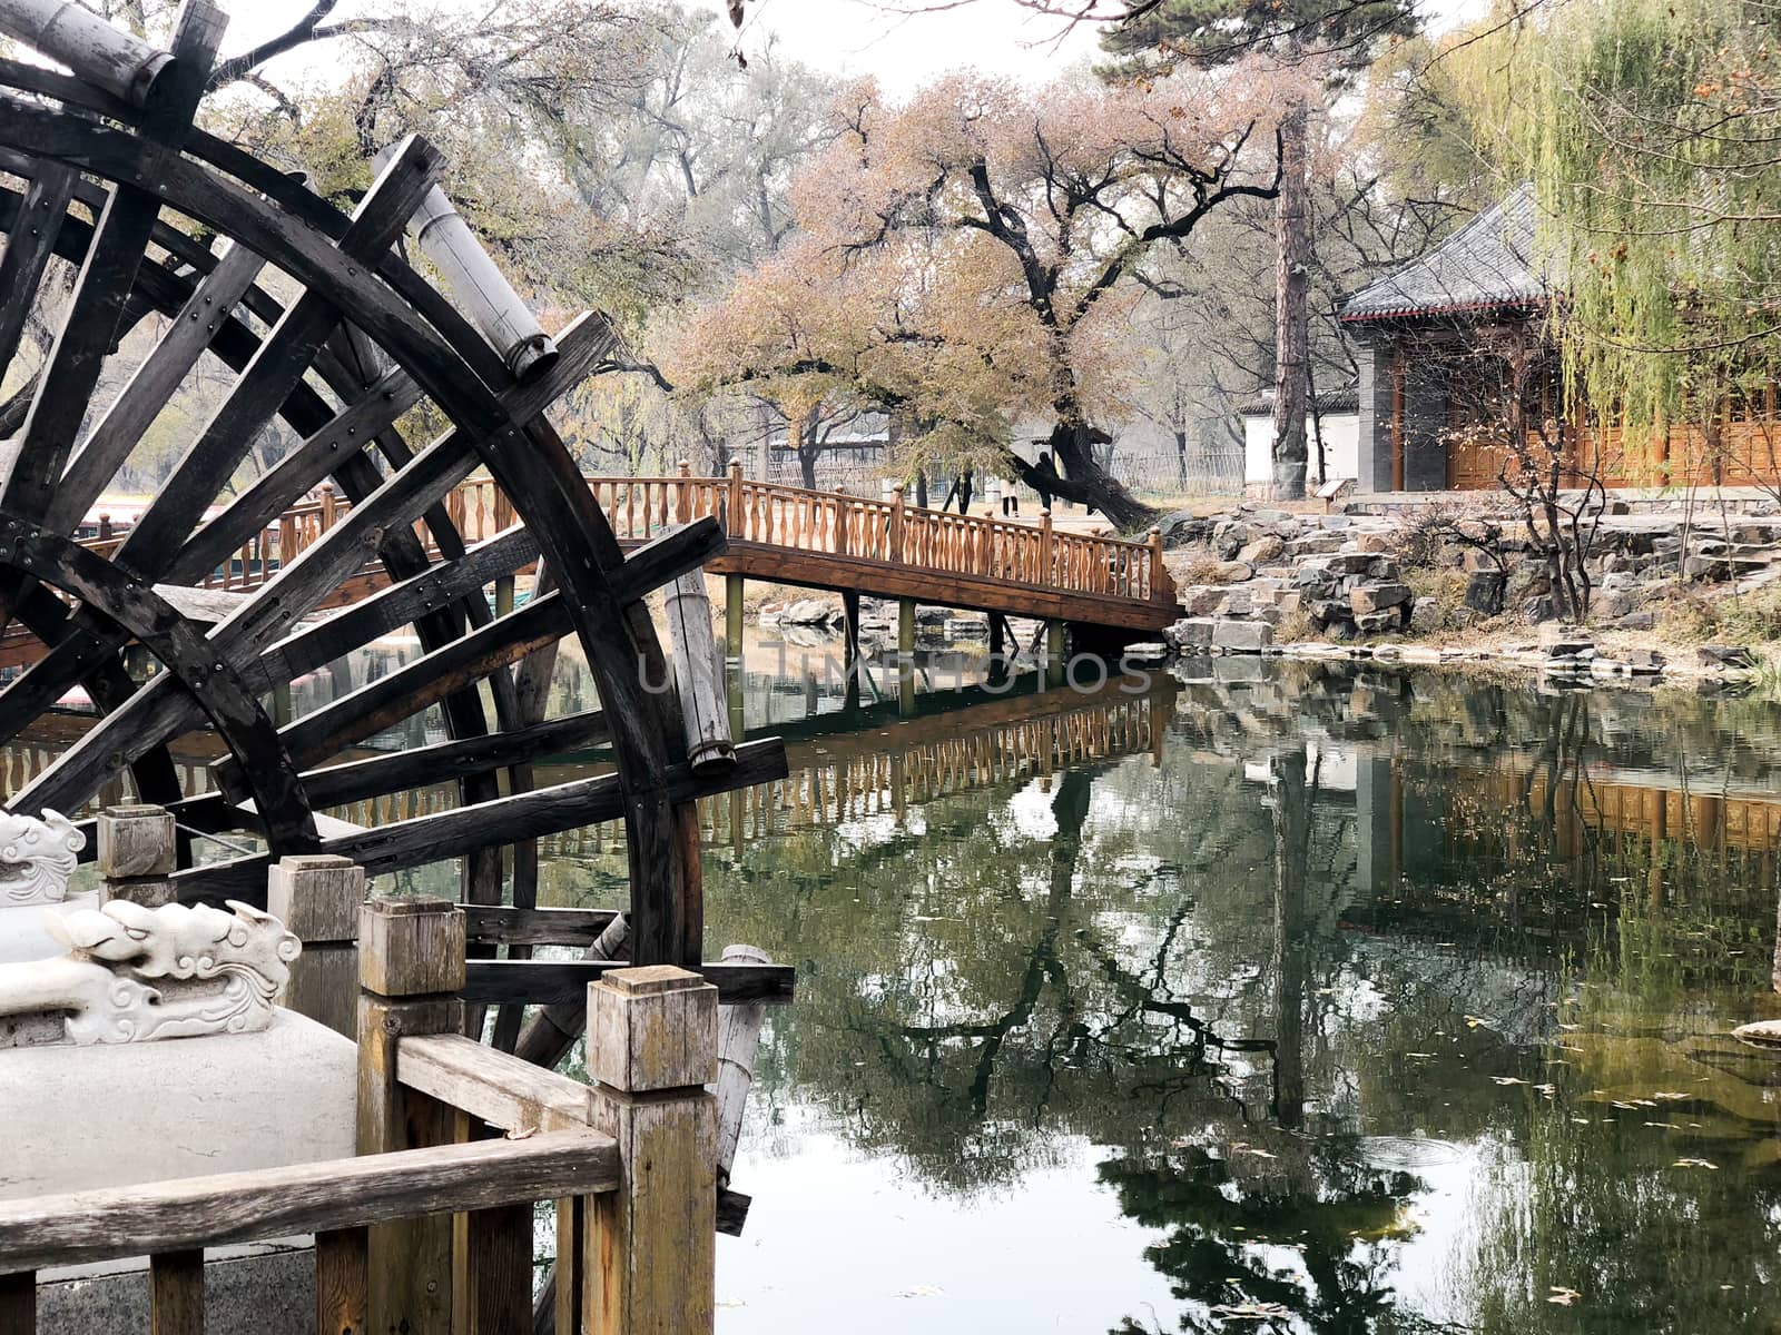
<svg viewBox="0 0 1781 1335"><path fill-rule="evenodd" d="M338 853L370 872L463 858L467 902L520 908L536 894L536 838L622 817L632 961L696 965L691 803L784 767L777 744L755 744L696 773L675 694L647 685L668 678L641 600L721 548L716 523L622 552L543 415L616 336L591 313L554 340L538 331L454 221L429 144L394 146L347 215L194 125L223 21L191 0L160 52L61 0L0 0L0 30L61 68L0 61L0 171L18 182L0 189L0 365L20 358L52 260L78 269L53 347L28 374L20 361L0 406L0 621L43 644L0 691L0 737L77 685L102 712L7 806L75 812L128 773L187 831L264 837L265 853L182 867L182 899L253 901L271 858ZM420 233L438 285L403 258L404 231ZM142 344L121 368L119 349ZM77 541L201 363L232 381L171 479L112 541ZM422 402L449 429L417 447L397 422ZM274 415L297 443L262 466L253 445ZM477 470L516 522L467 545L445 498ZM322 484L344 500L338 522L301 554L281 550L278 516ZM258 552L260 580L207 603L198 591L242 550ZM492 607L490 586L540 562L540 596ZM365 596L310 616L354 580ZM274 721L269 701L292 678L403 627L419 660ZM565 637L586 651L602 707L547 719ZM128 671L142 651L164 671ZM447 742L342 764L433 705ZM203 728L228 756L192 783L169 744ZM533 789L533 758L591 740L611 744L614 774ZM374 828L319 817L442 778L459 785L443 813Z"/></svg>

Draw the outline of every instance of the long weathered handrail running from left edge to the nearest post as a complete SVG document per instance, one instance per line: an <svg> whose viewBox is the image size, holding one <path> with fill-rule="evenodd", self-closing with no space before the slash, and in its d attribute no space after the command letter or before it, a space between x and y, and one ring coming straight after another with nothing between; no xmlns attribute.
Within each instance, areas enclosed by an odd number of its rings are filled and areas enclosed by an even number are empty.
<svg viewBox="0 0 1781 1335"><path fill-rule="evenodd" d="M0 1271L365 1228L616 1191L618 1143L593 1130L442 1145L292 1168L0 1202Z"/></svg>

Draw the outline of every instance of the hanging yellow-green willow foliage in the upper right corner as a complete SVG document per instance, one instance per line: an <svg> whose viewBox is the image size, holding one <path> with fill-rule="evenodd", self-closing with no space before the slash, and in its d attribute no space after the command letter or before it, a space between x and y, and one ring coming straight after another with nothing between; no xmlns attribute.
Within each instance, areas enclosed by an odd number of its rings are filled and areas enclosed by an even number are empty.
<svg viewBox="0 0 1781 1335"><path fill-rule="evenodd" d="M1781 12L1580 0L1542 27L1516 150L1567 287L1574 390L1633 431L1763 406L1781 356Z"/></svg>

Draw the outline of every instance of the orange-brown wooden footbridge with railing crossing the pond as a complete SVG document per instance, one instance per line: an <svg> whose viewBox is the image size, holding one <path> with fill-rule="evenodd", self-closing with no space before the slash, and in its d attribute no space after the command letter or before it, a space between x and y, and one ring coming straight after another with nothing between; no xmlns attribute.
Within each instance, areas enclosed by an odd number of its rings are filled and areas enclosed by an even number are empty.
<svg viewBox="0 0 1781 1335"><path fill-rule="evenodd" d="M908 641L917 603L988 612L996 646L1006 618L1131 639L1154 635L1181 616L1156 530L1142 543L1070 534L1056 530L1049 513L1038 523L951 514L905 504L901 488L892 500L807 491L748 481L739 465L728 477L693 477L682 465L673 477L586 481L620 543L632 550L682 525L716 520L727 546L705 568L730 580L732 646L739 641L744 580L839 591L850 616L857 616L862 595L896 598L907 612ZM445 509L467 543L513 548L527 541L515 530L513 504L486 477L456 486ZM313 500L287 509L242 543L196 589L157 591L187 616L221 619L237 602L230 595L269 582L349 511L346 498L322 486ZM424 523L417 532L436 555ZM78 534L84 546L105 557L126 536L128 527L109 516ZM369 564L322 607L351 605L388 582L381 564ZM500 584L511 591L511 578ZM37 641L18 623L0 637L0 668L32 662L39 653Z"/></svg>

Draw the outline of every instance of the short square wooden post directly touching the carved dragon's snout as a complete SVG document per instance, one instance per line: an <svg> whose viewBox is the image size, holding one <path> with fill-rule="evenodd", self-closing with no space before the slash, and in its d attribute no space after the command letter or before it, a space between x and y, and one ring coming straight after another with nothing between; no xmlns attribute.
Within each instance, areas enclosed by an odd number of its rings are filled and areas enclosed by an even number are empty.
<svg viewBox="0 0 1781 1335"><path fill-rule="evenodd" d="M365 869L351 858L289 856L265 876L265 911L303 942L278 1004L347 1038L358 1032L353 984L363 904Z"/></svg>

